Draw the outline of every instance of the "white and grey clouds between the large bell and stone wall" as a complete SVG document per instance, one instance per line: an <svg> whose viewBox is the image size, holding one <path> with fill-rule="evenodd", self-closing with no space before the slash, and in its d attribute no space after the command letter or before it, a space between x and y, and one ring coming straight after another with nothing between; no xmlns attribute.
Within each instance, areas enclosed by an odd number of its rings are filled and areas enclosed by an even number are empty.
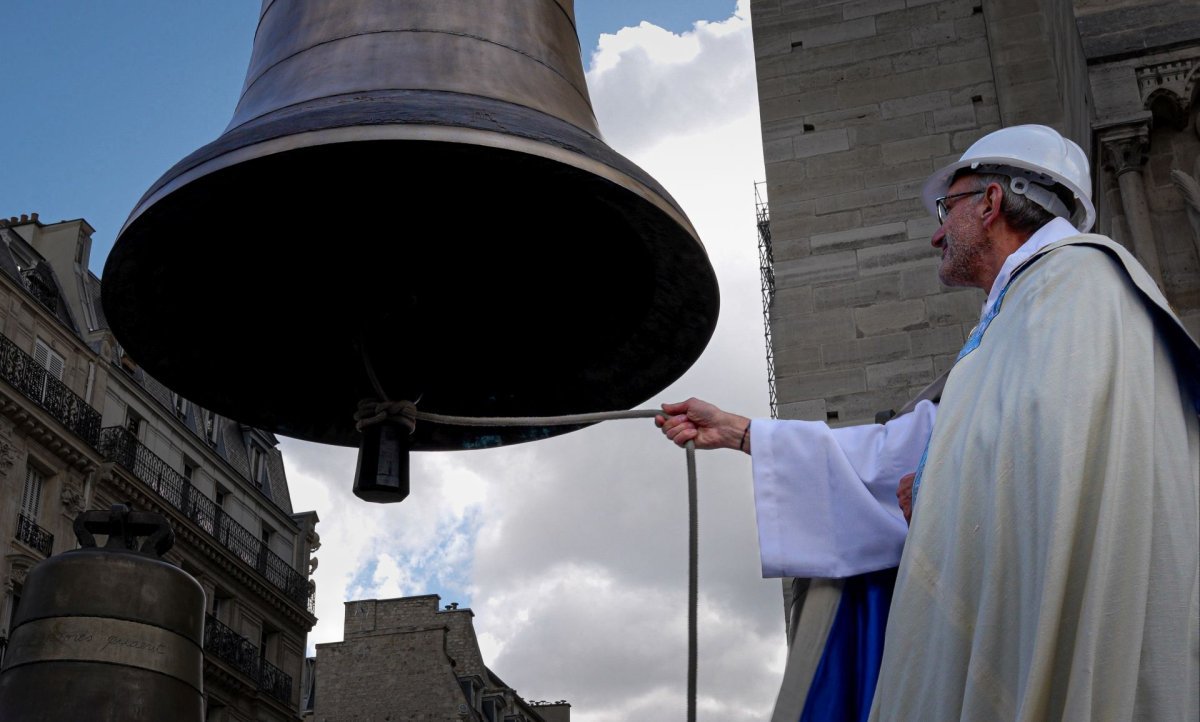
<svg viewBox="0 0 1200 722"><path fill-rule="evenodd" d="M643 23L604 36L588 83L608 143L688 212L721 285L709 348L646 405L695 395L766 415L749 4L682 35ZM296 509L329 510L311 642L341 638L352 582L384 597L462 580L485 660L527 699L568 699L576 722L682 715L685 465L649 420L414 453L412 497L382 507L350 495L353 451L288 441L284 456ZM749 458L702 452L698 470L701 710L762 720L785 645L779 582L758 573Z"/></svg>

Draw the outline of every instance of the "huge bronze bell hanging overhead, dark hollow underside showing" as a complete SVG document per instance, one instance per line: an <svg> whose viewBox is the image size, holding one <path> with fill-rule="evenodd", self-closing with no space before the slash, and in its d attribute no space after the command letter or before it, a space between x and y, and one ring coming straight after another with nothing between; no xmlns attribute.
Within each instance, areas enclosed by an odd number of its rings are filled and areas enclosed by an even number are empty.
<svg viewBox="0 0 1200 722"><path fill-rule="evenodd" d="M624 409L718 315L679 206L600 138L570 0L268 0L233 121L121 230L103 307L203 407L358 445L376 396ZM577 427L575 427L577 428ZM418 425L419 450L569 428Z"/></svg>

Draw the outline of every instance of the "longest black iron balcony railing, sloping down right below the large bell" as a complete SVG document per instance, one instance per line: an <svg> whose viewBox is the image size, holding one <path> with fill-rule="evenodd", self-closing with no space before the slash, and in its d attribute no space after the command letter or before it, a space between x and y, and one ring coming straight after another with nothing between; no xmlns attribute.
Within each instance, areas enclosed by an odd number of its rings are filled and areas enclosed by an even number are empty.
<svg viewBox="0 0 1200 722"><path fill-rule="evenodd" d="M178 509L216 539L224 548L258 570L272 586L293 602L314 610L313 586L300 572L271 552L245 527L229 518L220 506L202 494L182 474L172 469L138 441L126 428L110 426L100 432L100 452L128 469L154 489L167 504Z"/></svg>

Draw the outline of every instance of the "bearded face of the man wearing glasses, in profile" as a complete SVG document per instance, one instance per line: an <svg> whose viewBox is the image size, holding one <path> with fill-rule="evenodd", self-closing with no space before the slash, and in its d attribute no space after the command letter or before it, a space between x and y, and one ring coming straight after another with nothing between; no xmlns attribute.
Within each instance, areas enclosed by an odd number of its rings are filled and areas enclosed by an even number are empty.
<svg viewBox="0 0 1200 722"><path fill-rule="evenodd" d="M974 285L989 290L988 259L992 241L983 228L979 204L982 188L977 194L958 195L976 191L979 181L972 176L955 180L946 191L946 221L934 233L935 248L942 249L942 265L937 277L946 285Z"/></svg>

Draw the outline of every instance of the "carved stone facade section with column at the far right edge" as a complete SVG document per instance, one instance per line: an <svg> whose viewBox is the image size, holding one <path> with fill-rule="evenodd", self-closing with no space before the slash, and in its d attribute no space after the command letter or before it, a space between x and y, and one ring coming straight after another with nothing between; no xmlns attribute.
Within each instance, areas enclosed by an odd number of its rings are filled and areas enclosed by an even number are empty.
<svg viewBox="0 0 1200 722"><path fill-rule="evenodd" d="M1200 336L1200 5L1079 0L1096 97L1097 225Z"/></svg>

